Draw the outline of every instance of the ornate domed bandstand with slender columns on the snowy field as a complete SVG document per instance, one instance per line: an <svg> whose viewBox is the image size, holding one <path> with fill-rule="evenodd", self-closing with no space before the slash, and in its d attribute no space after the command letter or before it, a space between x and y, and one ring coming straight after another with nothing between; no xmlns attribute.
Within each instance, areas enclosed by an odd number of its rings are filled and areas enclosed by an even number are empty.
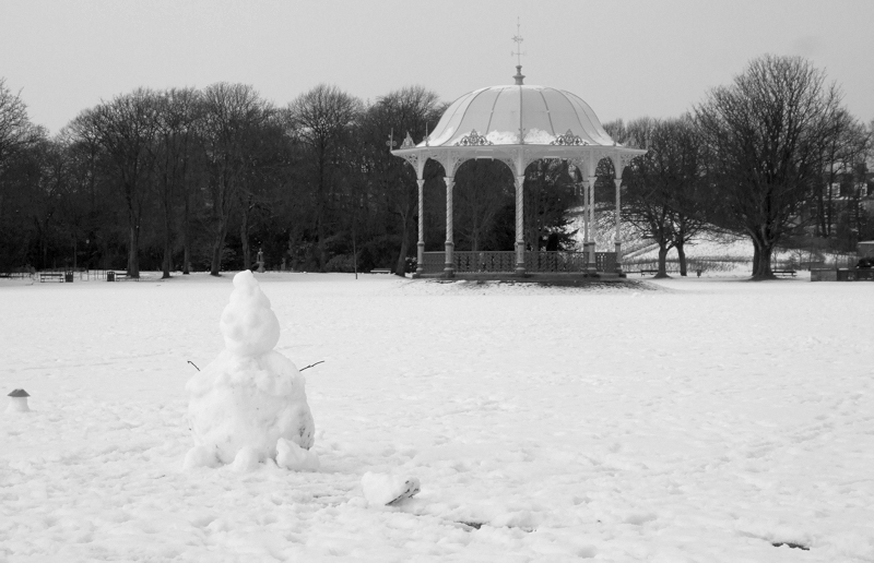
<svg viewBox="0 0 874 563"><path fill-rule="evenodd" d="M516 84L480 88L453 101L434 131L418 144L409 132L394 156L416 171L418 183L418 265L415 277L454 277L456 274L581 273L622 275L619 202L622 173L631 158L646 154L614 142L594 111L578 96L562 89L523 83L516 67ZM516 249L508 252L454 252L452 191L454 173L466 160L492 158L510 167L516 178ZM583 251L525 251L523 201L525 168L535 160L567 160L581 177L583 194ZM598 163L609 158L615 170L615 253L595 252L594 183ZM424 171L428 159L444 168L446 182L446 243L444 252L425 252Z"/></svg>

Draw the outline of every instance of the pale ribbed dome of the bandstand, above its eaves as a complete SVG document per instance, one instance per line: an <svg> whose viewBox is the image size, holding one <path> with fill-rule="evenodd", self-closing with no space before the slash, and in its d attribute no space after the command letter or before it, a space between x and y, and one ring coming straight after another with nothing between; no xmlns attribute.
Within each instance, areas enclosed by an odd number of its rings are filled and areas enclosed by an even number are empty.
<svg viewBox="0 0 874 563"><path fill-rule="evenodd" d="M444 112L427 145L423 141L417 146L521 144L520 110L527 145L614 146L579 96L531 85L491 86L461 96Z"/></svg>

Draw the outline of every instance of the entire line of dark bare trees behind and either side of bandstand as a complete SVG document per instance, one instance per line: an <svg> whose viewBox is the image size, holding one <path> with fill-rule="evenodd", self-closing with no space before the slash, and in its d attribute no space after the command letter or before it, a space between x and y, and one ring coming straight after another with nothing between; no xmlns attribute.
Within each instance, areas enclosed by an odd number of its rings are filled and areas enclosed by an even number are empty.
<svg viewBox="0 0 874 563"><path fill-rule="evenodd" d="M126 268L218 275L253 265L403 274L415 247L415 177L389 154L415 142L446 105L422 86L365 101L319 85L285 106L251 86L139 88L83 110L50 137L0 80L0 271ZM676 249L712 231L746 236L754 277L770 276L775 248L798 239L852 245L874 238L872 127L840 91L799 58L755 59L688 115L606 123L618 142L647 147L625 171L622 215ZM610 204L614 171L599 166ZM525 243L572 247L578 205L567 164L529 166ZM837 187L837 189L836 189ZM510 249L513 182L503 163L473 160L456 175L458 248ZM425 168L428 250L442 247L445 184Z"/></svg>

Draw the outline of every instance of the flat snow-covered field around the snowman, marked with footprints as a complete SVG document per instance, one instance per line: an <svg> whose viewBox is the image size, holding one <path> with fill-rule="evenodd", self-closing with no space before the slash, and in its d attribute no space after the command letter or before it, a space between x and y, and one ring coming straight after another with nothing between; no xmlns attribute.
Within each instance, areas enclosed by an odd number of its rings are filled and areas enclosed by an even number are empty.
<svg viewBox="0 0 874 563"><path fill-rule="evenodd" d="M0 282L0 561L874 561L872 284L258 279L316 472L182 470L231 276Z"/></svg>

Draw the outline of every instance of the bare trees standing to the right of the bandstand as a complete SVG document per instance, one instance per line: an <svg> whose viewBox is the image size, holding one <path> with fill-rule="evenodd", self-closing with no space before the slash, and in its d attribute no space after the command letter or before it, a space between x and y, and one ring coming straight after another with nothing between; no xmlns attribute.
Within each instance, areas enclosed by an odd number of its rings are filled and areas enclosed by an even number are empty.
<svg viewBox="0 0 874 563"><path fill-rule="evenodd" d="M772 277L780 245L854 250L874 238L874 123L841 105L823 71L798 57L764 56L676 119L606 124L647 147L626 171L625 220L665 255L708 232L748 238L753 277ZM609 193L609 192L607 192Z"/></svg>

